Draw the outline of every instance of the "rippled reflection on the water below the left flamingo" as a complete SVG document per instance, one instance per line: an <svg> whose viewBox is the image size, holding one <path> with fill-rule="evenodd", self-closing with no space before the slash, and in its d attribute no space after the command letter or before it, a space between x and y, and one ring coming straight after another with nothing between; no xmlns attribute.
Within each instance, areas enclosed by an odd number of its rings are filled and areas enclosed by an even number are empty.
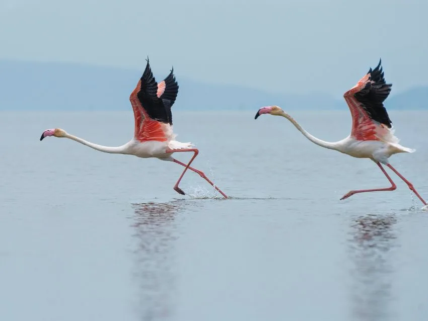
<svg viewBox="0 0 428 321"><path fill-rule="evenodd" d="M132 204L136 244L135 277L139 286L137 313L143 320L173 314L175 290L176 214L186 200Z"/></svg>

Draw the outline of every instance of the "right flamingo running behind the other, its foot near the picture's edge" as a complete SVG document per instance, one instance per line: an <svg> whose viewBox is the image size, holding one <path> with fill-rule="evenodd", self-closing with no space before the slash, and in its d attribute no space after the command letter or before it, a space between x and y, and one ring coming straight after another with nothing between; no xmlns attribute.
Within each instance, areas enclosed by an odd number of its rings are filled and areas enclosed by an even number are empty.
<svg viewBox="0 0 428 321"><path fill-rule="evenodd" d="M383 164L401 178L426 207L426 202L420 197L413 185L398 173L388 160L393 154L402 152L411 153L414 152L415 149L401 146L398 143L399 139L394 136L394 127L383 105L383 102L391 92L392 84L385 83L381 63L382 59L379 59L378 66L373 70L370 68L369 72L343 95L352 116L351 133L345 139L336 142L327 142L318 139L309 134L293 119L293 117L278 106L262 107L257 111L254 118L257 119L262 114L285 117L295 125L306 138L321 147L337 150L357 158L370 158L376 163L391 183L391 187L387 188L350 191L343 195L340 200L347 199L358 193L395 190L397 187L382 167Z"/></svg>

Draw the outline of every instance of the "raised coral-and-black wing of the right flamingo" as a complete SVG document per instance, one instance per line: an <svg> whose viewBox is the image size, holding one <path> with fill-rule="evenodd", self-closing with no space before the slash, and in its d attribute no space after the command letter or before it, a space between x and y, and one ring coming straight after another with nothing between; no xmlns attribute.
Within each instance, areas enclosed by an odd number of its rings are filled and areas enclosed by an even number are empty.
<svg viewBox="0 0 428 321"><path fill-rule="evenodd" d="M352 115L351 136L358 140L383 140L391 135L392 122L383 102L392 84L386 84L381 62L343 95Z"/></svg>

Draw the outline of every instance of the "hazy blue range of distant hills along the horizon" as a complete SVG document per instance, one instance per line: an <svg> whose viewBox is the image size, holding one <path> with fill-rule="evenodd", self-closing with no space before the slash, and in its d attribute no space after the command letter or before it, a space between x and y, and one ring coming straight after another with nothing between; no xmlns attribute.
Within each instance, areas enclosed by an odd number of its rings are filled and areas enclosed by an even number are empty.
<svg viewBox="0 0 428 321"><path fill-rule="evenodd" d="M74 63L0 60L0 110L130 110L129 94L141 70ZM154 70L158 82L162 80ZM168 70L165 70L167 75ZM343 109L326 94L271 94L251 88L205 84L177 75L181 110L248 110L279 105L288 109ZM391 95L388 109L426 109L428 87Z"/></svg>

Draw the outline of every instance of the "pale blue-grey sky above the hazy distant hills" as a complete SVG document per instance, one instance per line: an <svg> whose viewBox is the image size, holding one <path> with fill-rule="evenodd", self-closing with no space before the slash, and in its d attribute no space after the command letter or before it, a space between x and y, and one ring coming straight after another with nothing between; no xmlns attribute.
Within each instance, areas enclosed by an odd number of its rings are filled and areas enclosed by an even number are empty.
<svg viewBox="0 0 428 321"><path fill-rule="evenodd" d="M341 97L382 57L393 93L428 85L425 0L0 0L0 58L73 61ZM219 93L221 95L221 93Z"/></svg>

